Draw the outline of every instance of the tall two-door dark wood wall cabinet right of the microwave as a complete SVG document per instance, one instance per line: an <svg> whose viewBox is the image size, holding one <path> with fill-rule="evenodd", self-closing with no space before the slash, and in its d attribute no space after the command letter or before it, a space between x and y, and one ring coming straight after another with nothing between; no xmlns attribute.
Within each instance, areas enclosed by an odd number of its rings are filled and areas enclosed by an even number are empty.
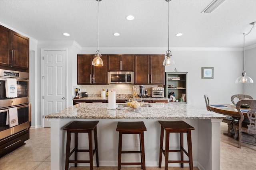
<svg viewBox="0 0 256 170"><path fill-rule="evenodd" d="M164 84L164 55L135 55L135 84Z"/></svg>

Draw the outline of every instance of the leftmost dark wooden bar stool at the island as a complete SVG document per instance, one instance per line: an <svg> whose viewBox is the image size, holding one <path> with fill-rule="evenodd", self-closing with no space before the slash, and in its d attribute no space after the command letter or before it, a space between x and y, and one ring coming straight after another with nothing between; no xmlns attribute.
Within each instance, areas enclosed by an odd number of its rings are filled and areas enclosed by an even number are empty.
<svg viewBox="0 0 256 170"><path fill-rule="evenodd" d="M90 170L93 170L93 155L96 153L96 163L99 167L98 157L98 140L97 140L97 124L99 121L73 121L63 130L67 131L67 145L66 145L66 164L65 170L68 170L69 163L90 163ZM94 131L94 145L92 149L92 131ZM70 152L71 133L75 134L75 147ZM89 149L78 149L78 133L88 133ZM69 157L75 152L75 159L70 160ZM89 160L77 160L77 152L89 152Z"/></svg>

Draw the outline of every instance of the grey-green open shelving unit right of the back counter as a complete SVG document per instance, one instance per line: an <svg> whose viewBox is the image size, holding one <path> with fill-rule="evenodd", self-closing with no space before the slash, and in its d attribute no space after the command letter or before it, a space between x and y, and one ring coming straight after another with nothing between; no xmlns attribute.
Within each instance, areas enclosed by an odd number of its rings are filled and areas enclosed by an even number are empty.
<svg viewBox="0 0 256 170"><path fill-rule="evenodd" d="M169 98L169 93L174 92L176 100L179 100L182 94L186 94L185 102L187 103L187 76L188 72L166 72L164 97ZM170 85L172 85L172 88L170 88Z"/></svg>

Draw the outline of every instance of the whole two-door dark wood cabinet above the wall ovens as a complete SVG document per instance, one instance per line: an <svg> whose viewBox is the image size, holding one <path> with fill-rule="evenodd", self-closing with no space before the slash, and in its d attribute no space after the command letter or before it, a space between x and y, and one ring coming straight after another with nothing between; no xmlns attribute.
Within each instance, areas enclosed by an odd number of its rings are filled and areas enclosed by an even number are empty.
<svg viewBox="0 0 256 170"><path fill-rule="evenodd" d="M0 25L0 65L29 71L29 38Z"/></svg>

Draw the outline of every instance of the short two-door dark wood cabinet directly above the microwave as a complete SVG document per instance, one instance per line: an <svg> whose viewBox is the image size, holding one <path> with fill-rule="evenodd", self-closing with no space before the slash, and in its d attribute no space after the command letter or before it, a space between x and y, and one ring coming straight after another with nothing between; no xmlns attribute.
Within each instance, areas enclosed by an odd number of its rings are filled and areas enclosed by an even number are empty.
<svg viewBox="0 0 256 170"><path fill-rule="evenodd" d="M108 55L108 71L134 71L134 55Z"/></svg>

